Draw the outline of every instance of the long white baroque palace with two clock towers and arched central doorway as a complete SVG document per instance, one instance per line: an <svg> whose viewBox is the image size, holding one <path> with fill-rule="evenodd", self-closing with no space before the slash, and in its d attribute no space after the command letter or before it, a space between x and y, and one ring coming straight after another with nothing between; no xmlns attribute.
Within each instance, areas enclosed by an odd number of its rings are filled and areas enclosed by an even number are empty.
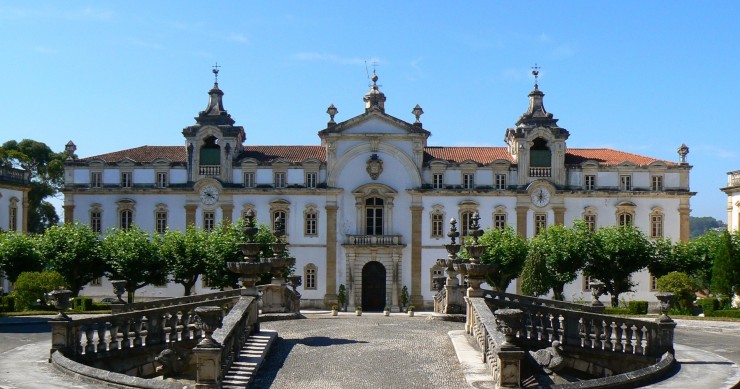
<svg viewBox="0 0 740 389"><path fill-rule="evenodd" d="M217 71L214 71L217 74ZM536 76L536 71L533 72ZM567 147L570 133L545 110L535 82L529 106L505 130L505 146L428 146L420 121L386 113L373 74L364 112L318 131L320 145L257 146L224 109L216 82L206 109L185 127L180 146L141 146L65 165L65 221L95 231L136 224L161 233L194 224L211 229L249 209L263 224L286 220L304 306L336 301L340 284L365 310L411 303L431 306L432 277L450 218L465 234L473 212L483 228L510 226L531 237L546 226L583 219L592 228L634 224L651 237L687 240L691 166L688 148L670 162L607 148ZM68 150L75 151L73 143ZM634 275L632 296L654 300L647 272ZM107 281L83 293L103 296ZM510 286L517 289L516 282ZM150 286L143 297L182 293ZM208 290L199 285L196 292ZM584 298L585 281L565 295Z"/></svg>

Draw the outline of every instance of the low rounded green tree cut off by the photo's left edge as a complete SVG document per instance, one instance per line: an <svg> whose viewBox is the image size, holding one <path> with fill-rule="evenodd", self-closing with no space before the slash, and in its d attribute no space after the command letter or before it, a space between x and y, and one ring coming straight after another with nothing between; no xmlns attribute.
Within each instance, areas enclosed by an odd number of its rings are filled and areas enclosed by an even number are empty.
<svg viewBox="0 0 740 389"><path fill-rule="evenodd" d="M43 270L36 238L17 232L0 233L0 271L10 282L16 282L23 272Z"/></svg>

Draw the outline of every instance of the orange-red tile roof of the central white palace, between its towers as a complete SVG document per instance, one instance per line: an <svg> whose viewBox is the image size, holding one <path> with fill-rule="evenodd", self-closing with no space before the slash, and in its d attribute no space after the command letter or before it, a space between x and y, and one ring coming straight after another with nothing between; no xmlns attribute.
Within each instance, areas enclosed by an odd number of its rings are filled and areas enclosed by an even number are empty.
<svg viewBox="0 0 740 389"><path fill-rule="evenodd" d="M490 164L495 160L502 159L513 162L506 147L426 147L424 149L424 162L441 159L452 163L462 163L467 160L479 164ZM93 157L83 158L81 162L89 162L93 159L102 159L108 163L115 163L122 159L131 159L138 163L151 163L158 158L169 159L174 163L185 163L187 152L185 146L141 146L127 150L100 154ZM283 158L292 163L303 162L309 158L326 161L326 149L322 146L244 146L241 158L254 158L259 162L272 162ZM655 158L638 154L627 153L613 149L568 149L565 154L565 163L577 165L586 160L594 160L602 165L618 165L622 162L631 162L636 165L648 165ZM674 162L662 161L668 165Z"/></svg>

